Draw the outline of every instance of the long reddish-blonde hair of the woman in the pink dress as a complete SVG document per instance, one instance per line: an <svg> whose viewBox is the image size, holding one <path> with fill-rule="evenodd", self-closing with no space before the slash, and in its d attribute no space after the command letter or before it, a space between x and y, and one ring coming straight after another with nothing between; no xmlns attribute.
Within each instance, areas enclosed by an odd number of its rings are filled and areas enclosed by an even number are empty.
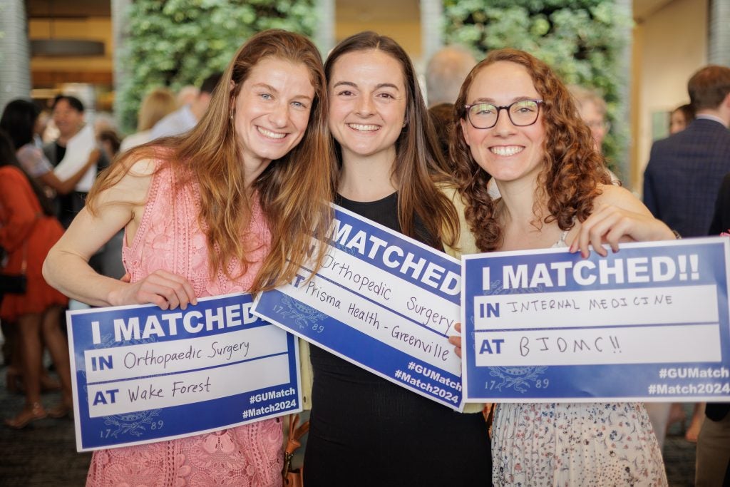
<svg viewBox="0 0 730 487"><path fill-rule="evenodd" d="M299 144L283 158L272 161L247 188L231 114L251 69L266 58L303 64L310 73L315 99ZM328 237L332 218L329 202L334 195L335 158L327 128L326 91L322 59L309 39L280 29L256 34L234 55L212 94L210 107L195 128L179 137L157 139L121 156L92 188L90 210L93 212L99 204L99 192L117 183L134 162L161 159L176 171L180 183L199 186L199 223L207 237L211 270L220 269L228 275L227 264L233 259L243 263L244 272L250 264L240 237L250 218L248 195L253 189L258 193L272 241L250 291L291 282L299 266L310 258L312 237ZM325 250L326 245L315 250L315 267L320 266Z"/></svg>

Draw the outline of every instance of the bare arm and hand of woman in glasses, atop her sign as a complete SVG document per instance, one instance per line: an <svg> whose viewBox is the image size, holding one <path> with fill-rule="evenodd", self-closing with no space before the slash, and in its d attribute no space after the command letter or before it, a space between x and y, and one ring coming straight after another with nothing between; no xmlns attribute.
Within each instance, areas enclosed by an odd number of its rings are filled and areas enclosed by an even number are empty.
<svg viewBox="0 0 730 487"><path fill-rule="evenodd" d="M580 223L570 245L571 252L580 250L587 257L590 248L601 256L607 255L603 244L618 251L619 242L648 242L675 239L664 222L657 220L636 196L626 188L601 185L602 193L593 200L593 212Z"/></svg>

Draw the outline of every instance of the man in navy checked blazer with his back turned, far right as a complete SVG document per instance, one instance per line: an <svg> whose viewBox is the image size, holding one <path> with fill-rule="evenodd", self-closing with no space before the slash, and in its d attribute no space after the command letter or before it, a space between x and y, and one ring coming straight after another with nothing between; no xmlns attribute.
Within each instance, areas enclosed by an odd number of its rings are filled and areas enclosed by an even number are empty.
<svg viewBox="0 0 730 487"><path fill-rule="evenodd" d="M644 172L644 202L683 237L704 236L707 229L717 235L730 224L721 222L730 208L718 199L723 176L730 172L730 68L705 66L687 88L696 118L687 129L654 142ZM713 218L715 200L721 207ZM707 404L697 440L698 487L730 481L729 412L730 404Z"/></svg>

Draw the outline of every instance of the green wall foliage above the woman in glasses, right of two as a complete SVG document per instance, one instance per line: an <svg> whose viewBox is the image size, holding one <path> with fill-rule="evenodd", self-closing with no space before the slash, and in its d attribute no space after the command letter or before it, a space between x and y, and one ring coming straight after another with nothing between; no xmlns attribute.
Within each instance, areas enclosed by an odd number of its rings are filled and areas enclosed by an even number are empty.
<svg viewBox="0 0 730 487"><path fill-rule="evenodd" d="M593 88L607 103L612 129L604 153L612 166L623 158L629 128L626 34L631 12L618 0L445 0L444 39L471 47L477 59L514 47L542 59L564 83Z"/></svg>

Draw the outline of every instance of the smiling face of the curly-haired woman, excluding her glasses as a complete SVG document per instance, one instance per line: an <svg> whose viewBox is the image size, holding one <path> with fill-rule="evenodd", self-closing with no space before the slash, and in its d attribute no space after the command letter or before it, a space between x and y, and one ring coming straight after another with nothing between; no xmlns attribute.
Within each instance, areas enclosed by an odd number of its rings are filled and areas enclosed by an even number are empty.
<svg viewBox="0 0 730 487"><path fill-rule="evenodd" d="M510 61L497 61L481 69L466 95L468 104L485 101L499 107L523 99L542 96L527 69ZM467 119L460 122L475 161L497 181L537 177L545 154L542 108L537 122L525 127L512 124L506 110L499 111L497 123L491 129L475 129Z"/></svg>

